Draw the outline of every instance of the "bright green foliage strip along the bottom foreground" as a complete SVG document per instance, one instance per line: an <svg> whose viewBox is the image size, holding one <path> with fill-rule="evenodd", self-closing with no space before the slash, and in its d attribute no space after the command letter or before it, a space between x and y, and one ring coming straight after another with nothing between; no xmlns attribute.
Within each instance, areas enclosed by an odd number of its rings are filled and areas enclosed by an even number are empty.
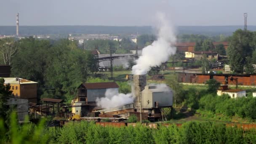
<svg viewBox="0 0 256 144"><path fill-rule="evenodd" d="M157 129L144 125L115 128L102 127L93 122L70 122L60 127L18 125L11 116L11 130L6 131L0 121L0 142L13 144L255 144L256 130L243 133L240 128L211 122L188 122L182 127L169 125Z"/></svg>

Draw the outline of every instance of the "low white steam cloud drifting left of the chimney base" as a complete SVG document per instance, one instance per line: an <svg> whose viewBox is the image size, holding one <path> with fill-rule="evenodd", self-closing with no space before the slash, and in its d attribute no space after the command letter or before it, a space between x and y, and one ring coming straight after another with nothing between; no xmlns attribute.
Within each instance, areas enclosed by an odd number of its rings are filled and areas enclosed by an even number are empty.
<svg viewBox="0 0 256 144"><path fill-rule="evenodd" d="M107 89L105 92L104 98L97 98L96 104L97 106L109 109L109 108L117 108L122 107L125 104L133 103L134 97L131 93L124 94L118 93L117 91L113 91L111 89Z"/></svg>

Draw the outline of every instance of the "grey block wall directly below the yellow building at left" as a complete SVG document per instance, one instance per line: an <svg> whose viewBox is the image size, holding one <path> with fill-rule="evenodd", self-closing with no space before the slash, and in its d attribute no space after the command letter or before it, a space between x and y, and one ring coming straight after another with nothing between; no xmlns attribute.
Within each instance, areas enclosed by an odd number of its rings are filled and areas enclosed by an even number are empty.
<svg viewBox="0 0 256 144"><path fill-rule="evenodd" d="M18 120L24 121L25 116L29 115L29 101L28 99L20 99L11 97L8 99L7 105L15 105L17 107Z"/></svg>

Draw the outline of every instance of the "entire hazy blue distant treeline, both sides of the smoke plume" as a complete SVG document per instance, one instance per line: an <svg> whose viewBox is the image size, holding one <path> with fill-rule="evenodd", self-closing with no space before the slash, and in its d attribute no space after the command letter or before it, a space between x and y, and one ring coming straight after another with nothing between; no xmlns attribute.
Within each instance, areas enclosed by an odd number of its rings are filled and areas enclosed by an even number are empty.
<svg viewBox="0 0 256 144"><path fill-rule="evenodd" d="M179 26L176 27L178 34L200 35L232 35L240 26ZM248 30L255 31L256 26L248 26ZM151 26L20 26L21 35L60 35L60 34L152 34L155 30ZM16 26L0 26L0 35L15 35Z"/></svg>

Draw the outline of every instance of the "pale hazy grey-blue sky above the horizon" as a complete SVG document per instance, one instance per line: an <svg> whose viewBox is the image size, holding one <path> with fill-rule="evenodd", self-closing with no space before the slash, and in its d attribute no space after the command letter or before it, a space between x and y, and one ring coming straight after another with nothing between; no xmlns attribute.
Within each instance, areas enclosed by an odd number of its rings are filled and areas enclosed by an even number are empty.
<svg viewBox="0 0 256 144"><path fill-rule="evenodd" d="M157 11L179 25L256 25L256 0L0 0L0 25L152 25Z"/></svg>

